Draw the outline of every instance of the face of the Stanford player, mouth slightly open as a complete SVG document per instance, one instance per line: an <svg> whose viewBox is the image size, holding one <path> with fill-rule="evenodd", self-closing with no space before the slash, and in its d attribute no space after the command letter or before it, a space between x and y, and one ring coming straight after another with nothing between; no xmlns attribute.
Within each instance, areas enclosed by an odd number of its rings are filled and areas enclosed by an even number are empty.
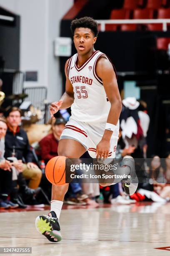
<svg viewBox="0 0 170 256"><path fill-rule="evenodd" d="M76 28L74 32L74 44L78 54L87 54L95 44L97 37L90 28Z"/></svg>

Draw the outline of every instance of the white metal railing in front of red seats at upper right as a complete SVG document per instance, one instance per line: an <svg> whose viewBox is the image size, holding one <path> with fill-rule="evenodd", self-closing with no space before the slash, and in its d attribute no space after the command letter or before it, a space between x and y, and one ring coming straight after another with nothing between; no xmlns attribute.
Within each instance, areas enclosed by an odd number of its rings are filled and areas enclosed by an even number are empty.
<svg viewBox="0 0 170 256"><path fill-rule="evenodd" d="M141 20L96 20L98 24L101 24L100 31L105 31L106 24L163 24L163 31L167 31L167 24L170 23L170 19L141 19Z"/></svg>

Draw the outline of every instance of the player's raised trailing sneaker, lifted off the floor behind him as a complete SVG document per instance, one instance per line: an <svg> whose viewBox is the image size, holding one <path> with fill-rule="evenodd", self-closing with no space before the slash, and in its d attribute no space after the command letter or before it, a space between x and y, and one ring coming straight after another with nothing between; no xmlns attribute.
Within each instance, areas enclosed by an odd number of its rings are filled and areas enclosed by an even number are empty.
<svg viewBox="0 0 170 256"><path fill-rule="evenodd" d="M138 177L135 171L135 161L132 156L124 156L122 166L127 165L130 167L130 178L123 180L123 188L127 195L133 195L138 187Z"/></svg>

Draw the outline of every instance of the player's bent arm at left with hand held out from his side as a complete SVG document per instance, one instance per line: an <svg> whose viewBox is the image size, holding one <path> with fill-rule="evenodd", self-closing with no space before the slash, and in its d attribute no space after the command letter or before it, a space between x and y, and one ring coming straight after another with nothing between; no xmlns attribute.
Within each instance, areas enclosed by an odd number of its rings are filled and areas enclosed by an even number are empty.
<svg viewBox="0 0 170 256"><path fill-rule="evenodd" d="M66 109L70 108L72 103L74 102L74 91L72 84L67 76L67 65L68 61L65 63L65 77L66 77L66 82L65 82L65 93L62 95L59 101L57 102L52 102L50 105L50 114L51 117L54 118L53 114L57 113L59 109Z"/></svg>

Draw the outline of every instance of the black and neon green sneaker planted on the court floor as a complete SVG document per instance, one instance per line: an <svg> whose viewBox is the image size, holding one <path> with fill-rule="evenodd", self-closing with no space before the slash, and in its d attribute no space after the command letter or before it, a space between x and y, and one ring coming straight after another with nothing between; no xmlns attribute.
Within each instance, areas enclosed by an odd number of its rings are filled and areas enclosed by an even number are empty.
<svg viewBox="0 0 170 256"><path fill-rule="evenodd" d="M35 220L35 226L39 233L45 236L50 242L59 242L62 239L60 225L55 212L48 215L40 215Z"/></svg>

